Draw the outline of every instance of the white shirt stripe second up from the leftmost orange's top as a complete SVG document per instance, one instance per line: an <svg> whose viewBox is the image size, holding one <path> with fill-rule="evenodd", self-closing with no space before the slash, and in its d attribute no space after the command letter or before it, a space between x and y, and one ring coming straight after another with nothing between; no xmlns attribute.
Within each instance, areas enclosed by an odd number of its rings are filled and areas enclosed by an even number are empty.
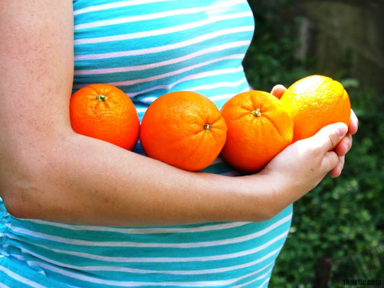
<svg viewBox="0 0 384 288"><path fill-rule="evenodd" d="M137 65L137 66L125 66L125 67L116 67L116 68L101 68L101 69L89 69L89 70L75 70L74 75L89 75L89 74L108 74L108 73L121 73L121 72L131 72L131 71L140 71L140 70L147 70L152 68L157 68L161 66L166 65L172 65L175 63L179 63L182 61L190 60L193 58L196 58L198 56L202 56L208 53L212 52L218 52L223 51L230 48L235 47L241 47L241 46L248 46L251 43L251 41L236 41L236 42L230 42L230 43L224 43L218 46L213 46L204 50L200 50L194 53L191 53L189 55L185 55L178 58L173 58L161 62L156 63L150 63L145 65Z"/></svg>

